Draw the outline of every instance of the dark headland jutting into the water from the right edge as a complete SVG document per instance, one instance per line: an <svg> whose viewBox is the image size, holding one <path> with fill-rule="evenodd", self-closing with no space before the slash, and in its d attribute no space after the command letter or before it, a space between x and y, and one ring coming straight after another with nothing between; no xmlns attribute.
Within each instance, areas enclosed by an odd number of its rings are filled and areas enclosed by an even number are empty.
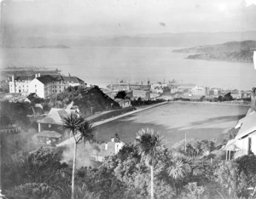
<svg viewBox="0 0 256 199"><path fill-rule="evenodd" d="M193 53L187 58L192 60L224 60L253 62L256 41L229 42L217 45L196 46L173 50L174 53Z"/></svg>

